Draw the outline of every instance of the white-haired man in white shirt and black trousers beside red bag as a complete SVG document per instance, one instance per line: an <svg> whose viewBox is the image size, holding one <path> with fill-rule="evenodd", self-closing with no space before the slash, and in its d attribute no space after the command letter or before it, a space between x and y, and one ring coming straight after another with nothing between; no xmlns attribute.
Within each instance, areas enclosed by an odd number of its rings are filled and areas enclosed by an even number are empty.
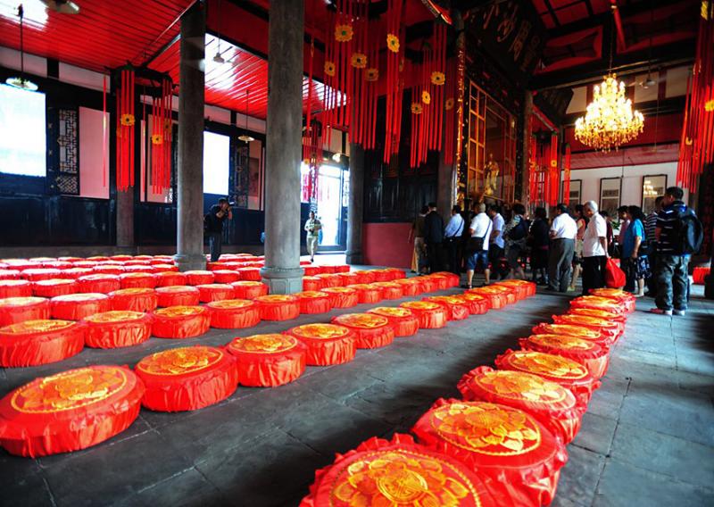
<svg viewBox="0 0 714 507"><path fill-rule="evenodd" d="M583 236L583 295L590 289L605 287L605 264L608 260L608 225L597 212L597 203L588 201L583 207L590 221Z"/></svg>

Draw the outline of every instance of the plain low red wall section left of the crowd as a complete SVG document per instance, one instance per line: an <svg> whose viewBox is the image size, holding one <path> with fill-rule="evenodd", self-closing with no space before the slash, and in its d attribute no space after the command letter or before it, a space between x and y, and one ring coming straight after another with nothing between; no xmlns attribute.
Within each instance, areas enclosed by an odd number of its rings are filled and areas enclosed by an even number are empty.
<svg viewBox="0 0 714 507"><path fill-rule="evenodd" d="M362 226L364 263L410 268L414 243L407 241L411 223L365 223Z"/></svg>

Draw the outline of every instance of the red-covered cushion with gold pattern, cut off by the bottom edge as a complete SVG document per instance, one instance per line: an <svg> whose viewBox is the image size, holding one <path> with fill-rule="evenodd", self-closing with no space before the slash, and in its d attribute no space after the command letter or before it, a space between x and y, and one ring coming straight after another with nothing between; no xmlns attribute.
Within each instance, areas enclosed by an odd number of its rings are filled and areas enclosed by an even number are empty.
<svg viewBox="0 0 714 507"><path fill-rule="evenodd" d="M372 437L315 472L300 507L496 507L502 505L461 462L396 433Z"/></svg>

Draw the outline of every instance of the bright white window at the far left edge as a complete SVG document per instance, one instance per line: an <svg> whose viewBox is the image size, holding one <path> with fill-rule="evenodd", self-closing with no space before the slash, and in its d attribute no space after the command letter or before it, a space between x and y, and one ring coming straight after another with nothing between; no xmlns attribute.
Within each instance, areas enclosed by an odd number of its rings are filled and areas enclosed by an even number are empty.
<svg viewBox="0 0 714 507"><path fill-rule="evenodd" d="M0 118L0 172L45 177L45 94L0 85Z"/></svg>

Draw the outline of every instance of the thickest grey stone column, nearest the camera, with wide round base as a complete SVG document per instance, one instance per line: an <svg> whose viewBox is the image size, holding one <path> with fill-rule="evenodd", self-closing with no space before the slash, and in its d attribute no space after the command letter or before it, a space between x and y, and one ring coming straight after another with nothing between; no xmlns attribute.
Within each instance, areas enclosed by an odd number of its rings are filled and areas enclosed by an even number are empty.
<svg viewBox="0 0 714 507"><path fill-rule="evenodd" d="M303 127L303 0L270 4L265 141L265 267L272 294L303 289L300 162Z"/></svg>

